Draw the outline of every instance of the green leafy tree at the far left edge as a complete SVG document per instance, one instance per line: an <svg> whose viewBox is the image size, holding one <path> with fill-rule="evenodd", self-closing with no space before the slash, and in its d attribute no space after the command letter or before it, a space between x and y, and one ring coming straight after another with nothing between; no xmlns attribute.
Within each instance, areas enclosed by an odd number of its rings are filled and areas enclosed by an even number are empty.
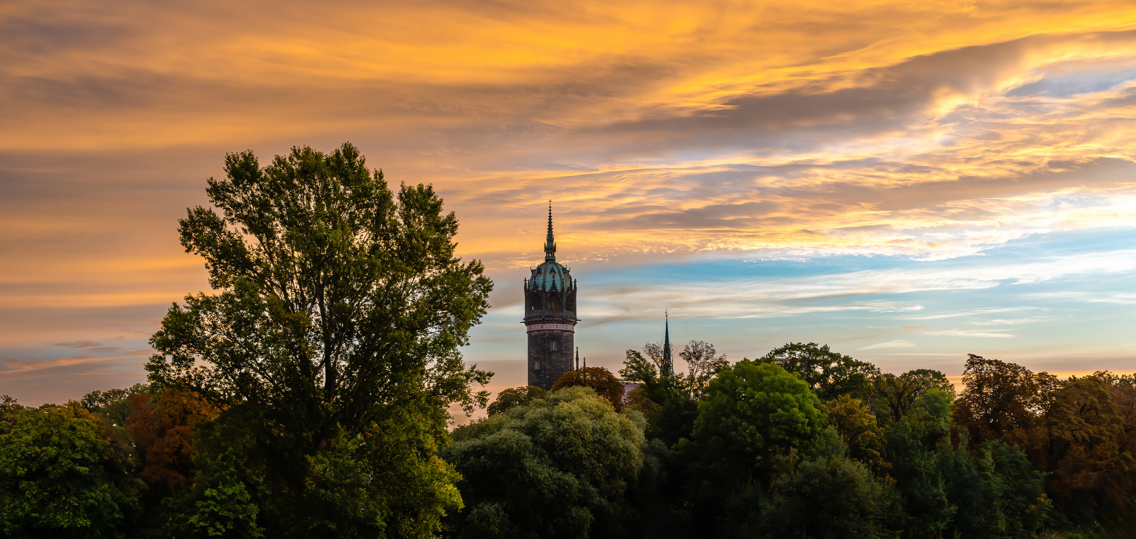
<svg viewBox="0 0 1136 539"><path fill-rule="evenodd" d="M130 446L78 403L5 403L0 527L8 538L122 537L139 516Z"/></svg>

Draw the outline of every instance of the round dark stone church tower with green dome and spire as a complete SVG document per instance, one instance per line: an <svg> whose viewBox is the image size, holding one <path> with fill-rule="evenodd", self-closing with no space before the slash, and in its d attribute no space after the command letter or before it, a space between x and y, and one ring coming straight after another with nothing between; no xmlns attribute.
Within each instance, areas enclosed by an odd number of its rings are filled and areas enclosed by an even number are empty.
<svg viewBox="0 0 1136 539"><path fill-rule="evenodd" d="M560 376L573 370L575 346L576 281L557 262L552 238L552 202L549 201L549 235L544 263L525 279L525 328L528 332L528 385L551 389Z"/></svg>

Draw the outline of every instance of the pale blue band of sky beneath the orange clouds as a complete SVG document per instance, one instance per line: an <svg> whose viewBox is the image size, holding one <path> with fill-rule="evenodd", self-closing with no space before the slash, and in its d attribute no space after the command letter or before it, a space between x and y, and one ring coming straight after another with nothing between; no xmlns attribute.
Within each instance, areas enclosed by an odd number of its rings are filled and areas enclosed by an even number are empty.
<svg viewBox="0 0 1136 539"><path fill-rule="evenodd" d="M618 286L660 286L682 292L684 284L729 287L740 281L760 285L791 278L809 284L864 270L879 271L880 278L887 278L888 270L942 270L966 277L971 270L976 275L991 267L1012 271L1020 264L1054 260L1060 266L1062 260L1130 247L1136 247L1136 230L1097 229L1034 235L980 255L941 261L766 253L630 267L587 264L584 271L574 273L582 283L580 304L585 311L590 304L609 302L605 289ZM777 258L804 261L768 260ZM1124 357L1126 351L1136 348L1136 335L1131 331L1136 327L1136 275L1092 269L1062 273L1060 267L1056 269L1052 277L1034 281L994 275L989 286L983 288L778 300L774 303L801 308L803 312L766 312L753 318L744 312L685 317L678 309L671 311L671 335L676 343L690 339L715 343L732 359L755 357L786 342L826 343L888 371L933 368L959 374L967 353L1006 356L1030 368L1058 372L1097 368L1136 370L1126 367L1131 357ZM882 306L866 306L872 304ZM888 309L887 304L895 309ZM577 344L590 357L590 364L616 370L625 349L662 338L661 312L643 312L641 305L630 308L626 319L578 328ZM466 348L467 356L475 359L515 360L517 372L506 372L502 380L518 384L524 381L520 369L525 359L525 331L519 319L519 312L491 312L486 323L474 330L473 344Z"/></svg>

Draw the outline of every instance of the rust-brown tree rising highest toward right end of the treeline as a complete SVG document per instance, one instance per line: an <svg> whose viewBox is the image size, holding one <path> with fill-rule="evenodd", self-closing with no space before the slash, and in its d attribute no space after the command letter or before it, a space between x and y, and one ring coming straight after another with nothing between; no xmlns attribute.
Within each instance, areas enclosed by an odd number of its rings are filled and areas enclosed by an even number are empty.
<svg viewBox="0 0 1136 539"><path fill-rule="evenodd" d="M972 443L1001 439L1030 452L1039 418L1061 381L1047 372L967 354L963 390L954 402L954 421Z"/></svg>

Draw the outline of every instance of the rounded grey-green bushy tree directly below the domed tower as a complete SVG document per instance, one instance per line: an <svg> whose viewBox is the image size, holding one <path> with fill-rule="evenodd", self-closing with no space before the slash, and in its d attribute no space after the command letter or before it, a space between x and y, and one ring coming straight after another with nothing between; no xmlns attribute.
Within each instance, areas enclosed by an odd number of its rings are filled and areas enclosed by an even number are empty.
<svg viewBox="0 0 1136 539"><path fill-rule="evenodd" d="M460 427L442 456L461 473L461 537L587 537L643 468L643 420L569 387Z"/></svg>

